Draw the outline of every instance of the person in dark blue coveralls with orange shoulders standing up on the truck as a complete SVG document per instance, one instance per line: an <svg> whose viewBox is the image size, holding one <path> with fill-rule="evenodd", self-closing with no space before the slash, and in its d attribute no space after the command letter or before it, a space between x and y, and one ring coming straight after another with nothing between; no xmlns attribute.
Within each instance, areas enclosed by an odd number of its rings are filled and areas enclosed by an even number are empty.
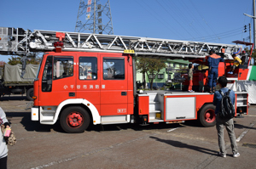
<svg viewBox="0 0 256 169"><path fill-rule="evenodd" d="M213 49L210 50L209 54L210 56L207 59L209 65L208 86L210 87L210 93L214 93L218 78L218 64L219 62L224 62L224 59L215 54Z"/></svg>

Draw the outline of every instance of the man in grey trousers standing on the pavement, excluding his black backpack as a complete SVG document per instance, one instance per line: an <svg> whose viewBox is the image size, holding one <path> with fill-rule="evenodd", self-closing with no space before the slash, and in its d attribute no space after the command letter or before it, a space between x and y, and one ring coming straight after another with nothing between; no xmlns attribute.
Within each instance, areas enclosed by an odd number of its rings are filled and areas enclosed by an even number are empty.
<svg viewBox="0 0 256 169"><path fill-rule="evenodd" d="M221 87L221 91L225 94L229 91L229 88L227 88L227 78L225 76L220 76L218 78L218 85ZM226 127L226 130L228 131L229 137L230 137L230 144L233 152L233 157L239 157L240 154L237 150L237 144L236 144L236 135L234 132L234 121L233 119L220 119L218 112L220 111L220 104L221 104L222 95L216 91L214 93L213 97L213 104L216 105L215 109L215 115L216 115L216 129L218 131L218 147L219 152L218 155L222 157L226 157L226 149L225 149L225 142L224 142L224 127ZM235 103L235 93L234 91L230 91L230 99L232 104Z"/></svg>

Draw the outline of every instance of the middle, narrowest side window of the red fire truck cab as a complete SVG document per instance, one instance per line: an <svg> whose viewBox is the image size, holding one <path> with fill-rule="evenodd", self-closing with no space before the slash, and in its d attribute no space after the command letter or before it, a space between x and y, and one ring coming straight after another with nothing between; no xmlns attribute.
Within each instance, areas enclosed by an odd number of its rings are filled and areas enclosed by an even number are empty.
<svg viewBox="0 0 256 169"><path fill-rule="evenodd" d="M97 79L97 58L80 57L79 58L79 79L96 80Z"/></svg>

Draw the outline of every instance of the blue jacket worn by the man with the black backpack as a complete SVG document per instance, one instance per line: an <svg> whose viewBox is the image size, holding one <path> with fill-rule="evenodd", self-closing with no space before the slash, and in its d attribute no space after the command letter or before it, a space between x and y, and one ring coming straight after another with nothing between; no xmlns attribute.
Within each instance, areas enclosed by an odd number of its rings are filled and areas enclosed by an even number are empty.
<svg viewBox="0 0 256 169"><path fill-rule="evenodd" d="M229 91L229 88L223 87L220 90L223 93L227 93ZM220 104L221 104L221 99L222 99L221 94L218 91L216 91L214 93L214 97L213 97L213 105L216 105L215 115L218 114L218 111L219 111L219 108L220 108ZM234 104L235 103L235 92L233 90L230 91L230 99L231 99L232 104Z"/></svg>

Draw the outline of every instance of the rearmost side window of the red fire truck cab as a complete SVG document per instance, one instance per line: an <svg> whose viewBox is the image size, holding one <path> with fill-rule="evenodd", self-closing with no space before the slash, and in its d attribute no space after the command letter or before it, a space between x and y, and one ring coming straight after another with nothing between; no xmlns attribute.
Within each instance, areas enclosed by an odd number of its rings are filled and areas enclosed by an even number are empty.
<svg viewBox="0 0 256 169"><path fill-rule="evenodd" d="M125 79L125 59L103 59L103 79L104 80L124 80Z"/></svg>

